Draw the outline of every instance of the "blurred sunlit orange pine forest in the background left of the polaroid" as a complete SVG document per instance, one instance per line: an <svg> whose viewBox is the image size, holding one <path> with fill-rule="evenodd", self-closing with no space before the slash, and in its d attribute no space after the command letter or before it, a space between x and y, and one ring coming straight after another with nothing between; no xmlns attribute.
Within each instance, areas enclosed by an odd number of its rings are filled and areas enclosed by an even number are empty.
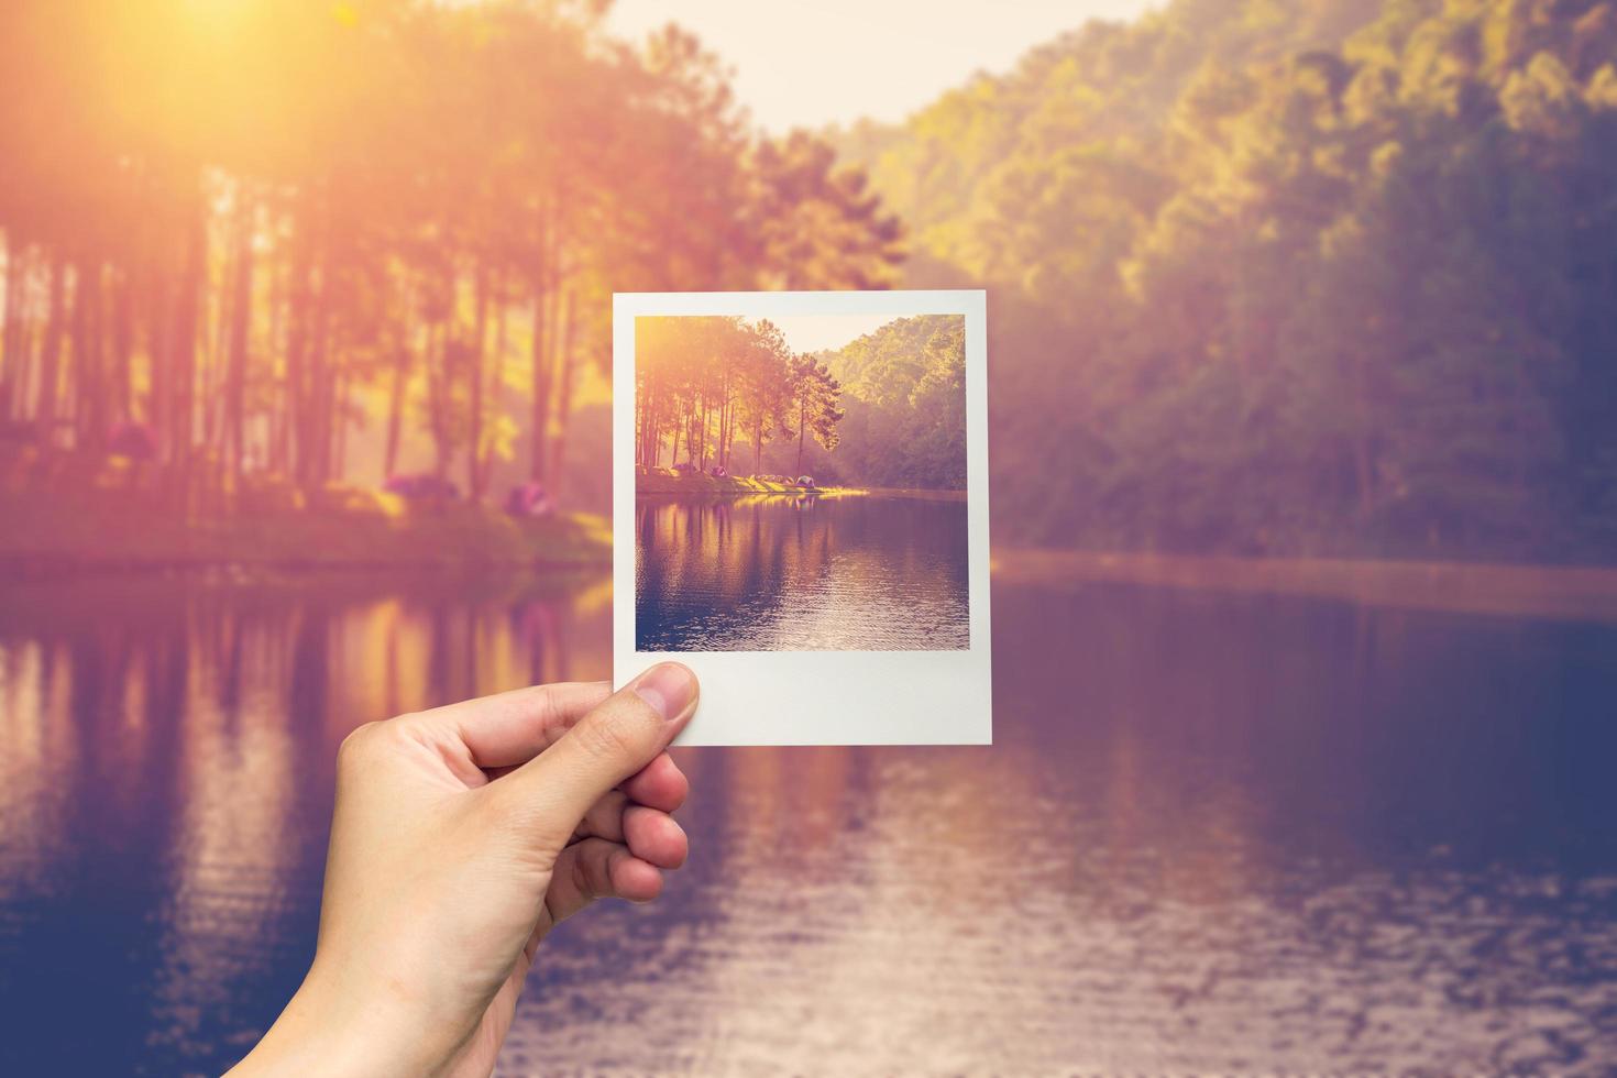
<svg viewBox="0 0 1617 1078"><path fill-rule="evenodd" d="M5 5L0 449L136 446L181 490L598 491L568 448L605 422L613 289L888 280L857 171L757 133L690 34L602 15Z"/></svg>

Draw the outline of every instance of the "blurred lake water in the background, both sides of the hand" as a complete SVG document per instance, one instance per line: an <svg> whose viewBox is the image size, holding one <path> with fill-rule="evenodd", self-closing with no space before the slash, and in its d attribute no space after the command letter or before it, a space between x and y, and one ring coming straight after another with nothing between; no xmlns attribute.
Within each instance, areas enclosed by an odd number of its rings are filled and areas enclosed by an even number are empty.
<svg viewBox="0 0 1617 1078"><path fill-rule="evenodd" d="M218 1070L353 726L608 669L605 580L0 593L0 1072ZM506 1073L1617 1068L1617 627L996 588L991 748L689 750Z"/></svg>

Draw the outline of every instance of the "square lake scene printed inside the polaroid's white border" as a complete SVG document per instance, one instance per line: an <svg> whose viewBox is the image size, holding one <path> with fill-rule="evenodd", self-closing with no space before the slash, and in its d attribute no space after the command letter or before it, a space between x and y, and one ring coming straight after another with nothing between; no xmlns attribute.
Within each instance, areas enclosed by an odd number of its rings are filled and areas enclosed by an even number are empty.
<svg viewBox="0 0 1617 1078"><path fill-rule="evenodd" d="M635 318L635 650L970 646L965 317Z"/></svg>

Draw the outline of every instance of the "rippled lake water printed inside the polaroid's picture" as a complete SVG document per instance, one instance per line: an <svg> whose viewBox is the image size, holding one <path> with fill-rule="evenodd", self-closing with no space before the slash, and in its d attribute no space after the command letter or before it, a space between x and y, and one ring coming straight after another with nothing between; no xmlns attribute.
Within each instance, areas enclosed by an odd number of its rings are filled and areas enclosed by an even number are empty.
<svg viewBox="0 0 1617 1078"><path fill-rule="evenodd" d="M642 499L640 651L959 651L970 646L965 503Z"/></svg>

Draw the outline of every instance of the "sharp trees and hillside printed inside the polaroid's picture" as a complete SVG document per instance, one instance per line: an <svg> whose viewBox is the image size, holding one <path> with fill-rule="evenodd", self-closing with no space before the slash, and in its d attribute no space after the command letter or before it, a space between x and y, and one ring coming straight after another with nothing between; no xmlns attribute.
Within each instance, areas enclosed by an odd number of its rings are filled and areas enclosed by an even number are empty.
<svg viewBox="0 0 1617 1078"><path fill-rule="evenodd" d="M640 317L634 415L645 469L965 490L965 320L794 352L768 318Z"/></svg>

